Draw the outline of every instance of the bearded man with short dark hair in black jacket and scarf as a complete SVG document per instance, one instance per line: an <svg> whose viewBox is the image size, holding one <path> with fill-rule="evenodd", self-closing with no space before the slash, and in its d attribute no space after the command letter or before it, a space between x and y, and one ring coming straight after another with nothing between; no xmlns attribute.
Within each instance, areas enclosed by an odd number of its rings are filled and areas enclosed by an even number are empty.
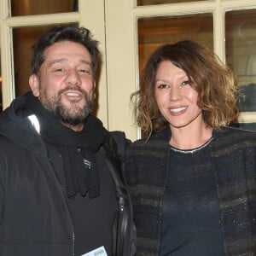
<svg viewBox="0 0 256 256"><path fill-rule="evenodd" d="M132 255L116 145L90 114L98 53L84 27L55 27L33 45L32 91L0 118L3 256Z"/></svg>

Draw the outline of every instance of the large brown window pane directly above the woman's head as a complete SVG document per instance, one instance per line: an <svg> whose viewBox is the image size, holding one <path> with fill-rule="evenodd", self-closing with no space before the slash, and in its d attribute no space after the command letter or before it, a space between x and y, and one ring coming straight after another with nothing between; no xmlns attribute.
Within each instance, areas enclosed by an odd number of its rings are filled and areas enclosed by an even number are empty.
<svg viewBox="0 0 256 256"><path fill-rule="evenodd" d="M160 46L180 39L192 39L213 49L212 14L141 18L138 26L139 69Z"/></svg>

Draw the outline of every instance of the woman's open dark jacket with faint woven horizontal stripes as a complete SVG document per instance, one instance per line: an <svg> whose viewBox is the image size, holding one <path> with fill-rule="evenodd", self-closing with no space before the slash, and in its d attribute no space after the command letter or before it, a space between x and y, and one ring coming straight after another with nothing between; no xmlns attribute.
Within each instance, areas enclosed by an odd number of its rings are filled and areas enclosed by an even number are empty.
<svg viewBox="0 0 256 256"><path fill-rule="evenodd" d="M210 145L225 255L256 252L256 133L224 127ZM132 143L125 159L137 224L137 255L159 255L169 130Z"/></svg>

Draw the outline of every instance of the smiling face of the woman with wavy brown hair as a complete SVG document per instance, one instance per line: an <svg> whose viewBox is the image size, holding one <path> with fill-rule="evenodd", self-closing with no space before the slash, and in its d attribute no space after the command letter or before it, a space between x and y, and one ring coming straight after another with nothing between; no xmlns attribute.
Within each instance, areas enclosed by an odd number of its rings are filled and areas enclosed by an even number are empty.
<svg viewBox="0 0 256 256"><path fill-rule="evenodd" d="M160 113L171 129L201 124L202 111L197 106L198 93L189 84L183 69L171 61L162 61L156 72L154 96Z"/></svg>

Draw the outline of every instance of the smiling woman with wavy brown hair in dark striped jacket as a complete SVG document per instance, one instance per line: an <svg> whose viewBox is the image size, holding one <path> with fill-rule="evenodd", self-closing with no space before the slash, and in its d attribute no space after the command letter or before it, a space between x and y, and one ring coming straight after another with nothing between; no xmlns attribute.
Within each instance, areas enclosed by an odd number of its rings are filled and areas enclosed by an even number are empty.
<svg viewBox="0 0 256 256"><path fill-rule="evenodd" d="M137 255L255 255L256 133L227 126L239 96L230 69L186 40L156 49L140 82L148 137L125 159Z"/></svg>

